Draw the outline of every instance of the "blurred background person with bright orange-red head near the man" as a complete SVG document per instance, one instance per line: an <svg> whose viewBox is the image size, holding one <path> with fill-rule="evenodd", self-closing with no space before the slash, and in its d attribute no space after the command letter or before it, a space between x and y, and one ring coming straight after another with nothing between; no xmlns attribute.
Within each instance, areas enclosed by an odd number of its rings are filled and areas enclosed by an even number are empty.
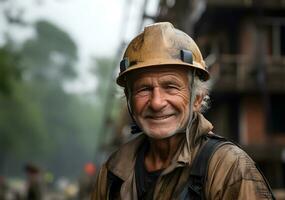
<svg viewBox="0 0 285 200"><path fill-rule="evenodd" d="M96 166L93 163L84 165L84 174L79 179L79 200L89 200L95 184Z"/></svg>

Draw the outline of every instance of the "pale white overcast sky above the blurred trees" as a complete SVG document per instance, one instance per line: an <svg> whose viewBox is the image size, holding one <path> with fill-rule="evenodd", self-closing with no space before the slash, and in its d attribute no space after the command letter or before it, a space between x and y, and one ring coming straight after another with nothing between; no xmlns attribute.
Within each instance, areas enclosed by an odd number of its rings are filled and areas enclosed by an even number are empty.
<svg viewBox="0 0 285 200"><path fill-rule="evenodd" d="M90 56L114 56L122 39L130 40L139 30L141 5L144 0L9 0L13 8L24 8L28 22L48 19L69 33L77 44L80 56L81 79L74 90L94 87L86 68ZM155 12L157 0L149 1L150 12ZM16 9L15 9L16 10ZM1 8L0 8L1 11ZM126 18L126 15L128 16ZM2 18L3 19L3 18ZM0 17L0 30L7 24ZM29 37L31 30L10 30L19 40ZM14 28L15 29L15 28ZM0 44L3 38L0 35ZM88 81L87 81L88 80ZM76 88L78 87L78 88Z"/></svg>

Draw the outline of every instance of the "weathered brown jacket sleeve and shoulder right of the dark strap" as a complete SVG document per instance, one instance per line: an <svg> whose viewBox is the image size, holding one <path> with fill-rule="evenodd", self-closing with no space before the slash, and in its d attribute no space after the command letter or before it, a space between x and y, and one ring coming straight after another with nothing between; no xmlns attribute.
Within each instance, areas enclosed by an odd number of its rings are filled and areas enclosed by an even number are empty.
<svg viewBox="0 0 285 200"><path fill-rule="evenodd" d="M208 168L207 194L225 199L272 199L265 177L239 146L225 144L212 156ZM251 189L249 189L251 188Z"/></svg>

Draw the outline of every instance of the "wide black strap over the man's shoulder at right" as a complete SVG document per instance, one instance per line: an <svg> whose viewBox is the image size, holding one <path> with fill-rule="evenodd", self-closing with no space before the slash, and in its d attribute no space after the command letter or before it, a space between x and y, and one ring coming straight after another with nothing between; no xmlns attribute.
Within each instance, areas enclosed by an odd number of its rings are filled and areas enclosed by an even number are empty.
<svg viewBox="0 0 285 200"><path fill-rule="evenodd" d="M192 162L188 183L186 184L179 198L181 200L206 199L204 186L208 174L207 170L211 157L218 149L218 147L223 146L225 144L232 144L225 138L217 135L208 134L206 135L206 138L208 138L208 140L199 150Z"/></svg>

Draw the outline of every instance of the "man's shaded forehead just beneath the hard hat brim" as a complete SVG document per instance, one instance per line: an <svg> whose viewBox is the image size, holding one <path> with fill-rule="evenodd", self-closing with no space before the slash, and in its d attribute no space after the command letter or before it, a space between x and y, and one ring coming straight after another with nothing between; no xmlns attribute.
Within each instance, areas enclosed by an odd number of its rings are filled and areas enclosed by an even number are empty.
<svg viewBox="0 0 285 200"><path fill-rule="evenodd" d="M132 87L132 85L141 78L157 77L162 78L163 76L172 76L188 84L190 69L183 67L173 67L173 66L161 66L161 67L149 67L134 70L130 72L127 76L127 87Z"/></svg>

